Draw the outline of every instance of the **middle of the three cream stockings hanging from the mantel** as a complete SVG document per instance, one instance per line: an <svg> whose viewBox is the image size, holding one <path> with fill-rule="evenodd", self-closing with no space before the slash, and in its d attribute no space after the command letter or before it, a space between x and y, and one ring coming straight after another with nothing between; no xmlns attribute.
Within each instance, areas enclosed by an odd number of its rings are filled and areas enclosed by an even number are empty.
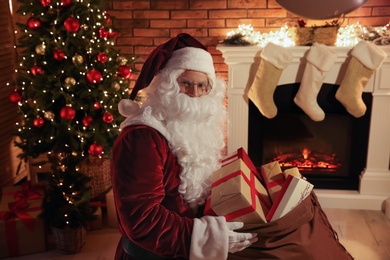
<svg viewBox="0 0 390 260"><path fill-rule="evenodd" d="M320 43L314 43L307 54L307 64L294 102L314 121L325 118L324 111L317 103L317 96L336 57L330 48Z"/></svg>

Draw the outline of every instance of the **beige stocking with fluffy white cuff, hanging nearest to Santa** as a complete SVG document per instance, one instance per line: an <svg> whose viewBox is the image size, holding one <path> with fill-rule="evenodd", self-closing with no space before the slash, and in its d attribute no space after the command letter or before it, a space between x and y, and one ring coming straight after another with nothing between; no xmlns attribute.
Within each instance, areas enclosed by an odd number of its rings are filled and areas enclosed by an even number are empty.
<svg viewBox="0 0 390 260"><path fill-rule="evenodd" d="M284 47L270 42L263 48L260 57L248 97L265 117L273 118L278 112L273 95L282 70L290 64L292 55Z"/></svg>

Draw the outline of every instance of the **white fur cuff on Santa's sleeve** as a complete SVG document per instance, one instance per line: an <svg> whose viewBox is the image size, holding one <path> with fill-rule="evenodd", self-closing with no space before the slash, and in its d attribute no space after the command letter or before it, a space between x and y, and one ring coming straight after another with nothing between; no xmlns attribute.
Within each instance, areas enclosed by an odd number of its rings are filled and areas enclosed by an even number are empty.
<svg viewBox="0 0 390 260"><path fill-rule="evenodd" d="M190 260L225 260L229 245L228 231L225 217L195 218Z"/></svg>

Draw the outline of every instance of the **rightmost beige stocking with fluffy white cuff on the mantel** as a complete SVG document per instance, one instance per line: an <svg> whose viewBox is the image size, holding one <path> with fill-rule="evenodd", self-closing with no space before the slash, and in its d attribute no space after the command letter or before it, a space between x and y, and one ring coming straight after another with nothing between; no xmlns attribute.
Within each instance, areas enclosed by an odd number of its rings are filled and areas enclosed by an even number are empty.
<svg viewBox="0 0 390 260"><path fill-rule="evenodd" d="M363 90L374 71L382 65L386 53L372 43L360 41L352 49L351 55L344 79L336 92L336 99L348 113L358 118L367 109L362 100Z"/></svg>

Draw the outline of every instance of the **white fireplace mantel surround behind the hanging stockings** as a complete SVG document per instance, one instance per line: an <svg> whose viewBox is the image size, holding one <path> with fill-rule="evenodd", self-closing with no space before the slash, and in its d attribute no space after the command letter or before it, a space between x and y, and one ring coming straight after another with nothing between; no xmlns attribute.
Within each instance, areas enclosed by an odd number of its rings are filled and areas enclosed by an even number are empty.
<svg viewBox="0 0 390 260"><path fill-rule="evenodd" d="M278 86L301 82L310 47L287 48L293 61L282 72ZM340 84L348 66L352 47L330 47L337 60L324 83ZM390 46L380 46L387 58L365 87L373 95L366 168L360 174L359 190L320 190L316 194L323 207L381 210L390 197ZM228 65L228 152L248 149L248 98L262 48L218 45Z"/></svg>

